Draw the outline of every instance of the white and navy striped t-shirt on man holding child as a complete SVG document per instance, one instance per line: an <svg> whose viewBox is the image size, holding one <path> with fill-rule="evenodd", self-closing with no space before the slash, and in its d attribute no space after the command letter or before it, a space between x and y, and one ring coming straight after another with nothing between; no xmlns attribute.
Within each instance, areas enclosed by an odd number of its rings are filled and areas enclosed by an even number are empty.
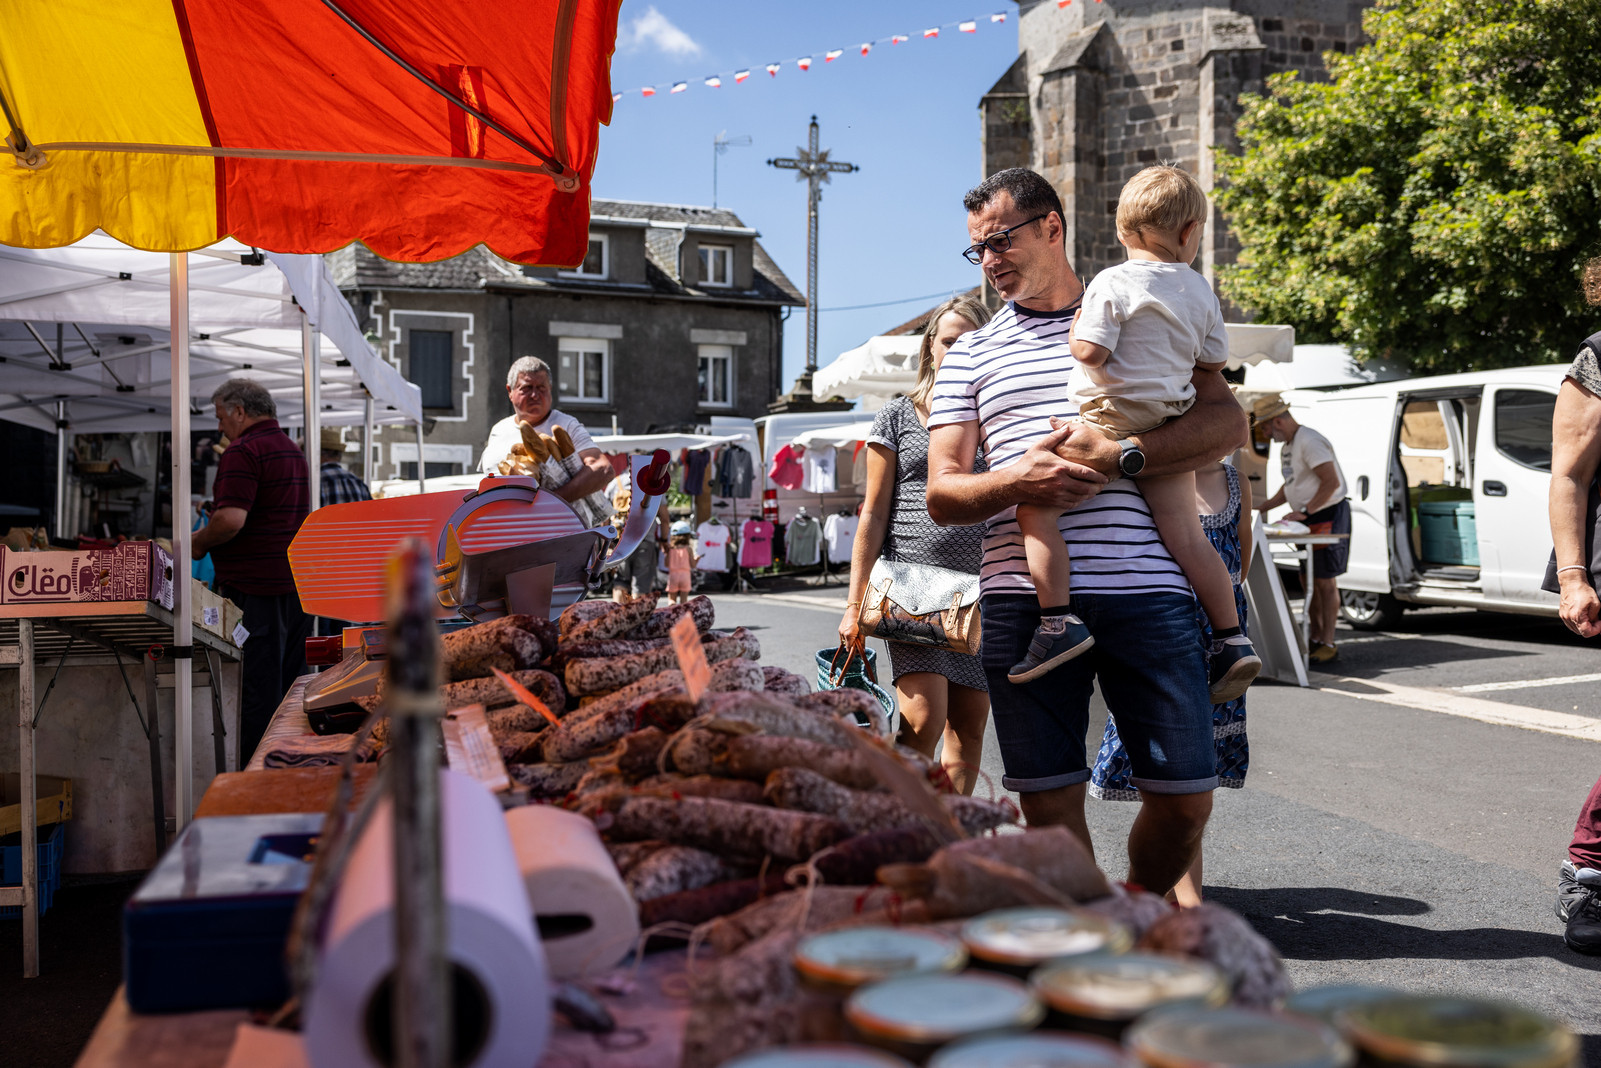
<svg viewBox="0 0 1601 1068"><path fill-rule="evenodd" d="M1050 432L1050 416L1073 413L1068 400L1068 328L1073 309L1031 312L1007 304L985 327L951 346L929 399L929 429L978 423L980 448L991 471L1017 463ZM1135 484L1117 479L1063 512L1061 536L1073 554L1073 591L1100 594L1190 592L1167 554L1151 509ZM989 517L985 594L1033 594L1017 509Z"/></svg>

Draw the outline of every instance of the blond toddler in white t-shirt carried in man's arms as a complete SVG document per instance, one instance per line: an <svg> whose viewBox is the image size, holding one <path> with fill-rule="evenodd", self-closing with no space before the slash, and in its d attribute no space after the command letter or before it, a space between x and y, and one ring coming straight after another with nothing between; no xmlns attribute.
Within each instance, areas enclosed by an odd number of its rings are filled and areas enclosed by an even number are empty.
<svg viewBox="0 0 1601 1068"><path fill-rule="evenodd" d="M1069 335L1077 418L1111 440L1124 442L1188 412L1196 368L1222 371L1228 359L1223 309L1190 267L1206 218L1201 184L1170 163L1146 167L1117 199L1117 240L1129 259L1090 280ZM1138 487L1212 623L1212 701L1231 701L1262 671L1262 660L1241 631L1228 570L1201 530L1194 474L1140 479ZM1037 504L1017 509L1041 623L1028 655L1007 676L1013 684L1031 682L1095 644L1069 612L1073 564L1058 517L1058 509Z"/></svg>

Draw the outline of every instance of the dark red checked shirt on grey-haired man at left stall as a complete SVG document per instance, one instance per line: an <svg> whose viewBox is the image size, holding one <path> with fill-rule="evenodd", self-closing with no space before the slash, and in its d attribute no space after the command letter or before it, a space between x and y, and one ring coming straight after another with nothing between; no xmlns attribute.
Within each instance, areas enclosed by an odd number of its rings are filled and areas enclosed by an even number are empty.
<svg viewBox="0 0 1601 1068"><path fill-rule="evenodd" d="M290 541L311 512L306 456L277 420L247 428L216 464L211 501L245 509L239 533L211 549L216 578L242 594L291 594Z"/></svg>

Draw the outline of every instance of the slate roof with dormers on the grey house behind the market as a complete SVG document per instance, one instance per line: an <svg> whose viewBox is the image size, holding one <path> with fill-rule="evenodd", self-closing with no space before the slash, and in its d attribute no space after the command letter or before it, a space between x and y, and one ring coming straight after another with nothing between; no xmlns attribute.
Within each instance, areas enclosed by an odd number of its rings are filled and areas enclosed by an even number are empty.
<svg viewBox="0 0 1601 1068"><path fill-rule="evenodd" d="M700 290L685 285L679 277L679 243L684 227L725 227L743 231L754 237L756 231L744 226L727 208L701 208L679 203L644 203L637 200L591 200L592 216L642 219L645 229L645 279L653 296L706 298L717 301L752 301L762 304L805 306L805 295L773 263L759 240L752 240L752 287L728 291L717 287ZM459 256L437 263L392 263L379 258L365 245L349 245L327 255L335 283L343 290L485 290L514 288L528 291L639 291L640 287L620 287L610 282L594 282L568 277L541 277L527 272L522 264L501 259L484 245ZM548 272L546 272L548 274Z"/></svg>

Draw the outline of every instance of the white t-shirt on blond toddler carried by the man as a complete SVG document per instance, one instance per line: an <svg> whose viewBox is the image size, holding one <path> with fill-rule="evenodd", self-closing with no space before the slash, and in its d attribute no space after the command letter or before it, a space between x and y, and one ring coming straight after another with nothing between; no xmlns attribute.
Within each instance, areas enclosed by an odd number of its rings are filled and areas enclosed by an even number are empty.
<svg viewBox="0 0 1601 1068"><path fill-rule="evenodd" d="M1228 359L1223 309L1204 275L1186 263L1127 259L1084 290L1073 336L1111 349L1100 367L1074 365L1068 391L1095 397L1194 400L1196 363Z"/></svg>

